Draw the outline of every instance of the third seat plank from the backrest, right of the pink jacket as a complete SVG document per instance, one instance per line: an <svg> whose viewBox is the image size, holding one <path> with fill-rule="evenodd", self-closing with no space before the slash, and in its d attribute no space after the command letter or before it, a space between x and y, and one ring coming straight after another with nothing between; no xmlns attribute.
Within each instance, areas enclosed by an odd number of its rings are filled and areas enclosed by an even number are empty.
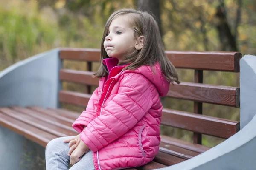
<svg viewBox="0 0 256 170"><path fill-rule="evenodd" d="M157 156L154 158L154 161L160 164L164 164L166 166L171 166L171 165L186 161L186 159L178 158L168 153L163 153L159 151Z"/></svg>

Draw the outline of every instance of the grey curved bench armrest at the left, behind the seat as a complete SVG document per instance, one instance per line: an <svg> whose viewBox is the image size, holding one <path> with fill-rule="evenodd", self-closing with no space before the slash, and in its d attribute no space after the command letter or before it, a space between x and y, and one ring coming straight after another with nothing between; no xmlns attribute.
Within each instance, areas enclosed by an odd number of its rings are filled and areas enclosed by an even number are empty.
<svg viewBox="0 0 256 170"><path fill-rule="evenodd" d="M47 51L0 72L0 107L58 107L59 49Z"/></svg>

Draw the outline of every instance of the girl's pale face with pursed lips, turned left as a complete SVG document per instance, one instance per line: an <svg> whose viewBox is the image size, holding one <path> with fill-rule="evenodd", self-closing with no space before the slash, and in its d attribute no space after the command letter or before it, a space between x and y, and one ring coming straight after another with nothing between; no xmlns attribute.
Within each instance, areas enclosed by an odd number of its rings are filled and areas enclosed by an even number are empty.
<svg viewBox="0 0 256 170"><path fill-rule="evenodd" d="M122 59L125 54L135 50L134 31L129 28L129 19L125 16L115 18L108 29L104 48L109 57Z"/></svg>

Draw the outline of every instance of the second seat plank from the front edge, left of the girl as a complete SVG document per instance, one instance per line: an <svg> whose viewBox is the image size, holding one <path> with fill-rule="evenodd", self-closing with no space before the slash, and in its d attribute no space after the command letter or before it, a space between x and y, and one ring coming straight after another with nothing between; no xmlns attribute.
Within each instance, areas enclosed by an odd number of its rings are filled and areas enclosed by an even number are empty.
<svg viewBox="0 0 256 170"><path fill-rule="evenodd" d="M45 132L51 133L52 135L55 135L55 136L66 137L66 136L77 135L77 133L71 130L58 127L57 125L51 124L49 122L45 122L41 119L37 119L30 115L26 115L23 112L15 111L9 108L1 108L0 111L10 117L13 117L17 120L20 120L21 122L34 126L38 129L44 130Z"/></svg>

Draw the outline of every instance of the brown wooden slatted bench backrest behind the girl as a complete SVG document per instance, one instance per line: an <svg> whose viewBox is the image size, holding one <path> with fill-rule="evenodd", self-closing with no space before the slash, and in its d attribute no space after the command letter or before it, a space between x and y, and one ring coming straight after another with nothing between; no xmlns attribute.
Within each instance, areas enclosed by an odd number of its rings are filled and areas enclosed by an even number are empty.
<svg viewBox="0 0 256 170"><path fill-rule="evenodd" d="M191 52L166 51L167 57L176 68L194 70L194 82L181 82L170 85L167 97L191 100L194 113L163 109L162 125L177 127L194 132L194 143L201 144L201 134L227 139L239 131L239 122L203 115L202 103L226 105L239 108L239 88L203 83L203 71L239 72L239 52ZM92 86L99 79L92 78L92 64L99 62L100 50L90 48L62 48L61 60L80 60L87 62L87 71L61 69L60 80L87 85L86 93L59 91L59 102L86 107ZM182 80L182 78L181 78Z"/></svg>

